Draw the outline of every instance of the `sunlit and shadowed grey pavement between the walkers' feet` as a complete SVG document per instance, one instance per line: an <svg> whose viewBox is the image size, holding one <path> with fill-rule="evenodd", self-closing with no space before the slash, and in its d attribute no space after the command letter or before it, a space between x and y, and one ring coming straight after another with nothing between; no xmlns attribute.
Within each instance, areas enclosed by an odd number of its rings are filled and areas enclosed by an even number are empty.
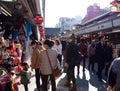
<svg viewBox="0 0 120 91"><path fill-rule="evenodd" d="M103 82L100 82L96 74L90 73L87 69L83 73L82 67L80 67L80 74L77 75L77 69L75 68L75 76L77 82L77 91L106 91L106 81L103 80ZM68 91L69 88L64 86L65 81L66 73L63 73L60 77L56 78L57 91ZM35 88L35 77L33 73L31 83L29 84L29 91L36 91ZM22 85L19 85L19 91L24 91L24 87ZM51 90L49 89L49 91Z"/></svg>

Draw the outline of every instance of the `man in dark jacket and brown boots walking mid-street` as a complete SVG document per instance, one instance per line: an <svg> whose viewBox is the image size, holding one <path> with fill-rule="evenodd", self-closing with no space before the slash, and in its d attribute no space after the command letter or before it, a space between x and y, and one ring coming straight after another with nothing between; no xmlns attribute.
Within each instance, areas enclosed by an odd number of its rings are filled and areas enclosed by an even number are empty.
<svg viewBox="0 0 120 91"><path fill-rule="evenodd" d="M71 36L68 39L68 45L65 50L65 66L67 67L67 81L65 82L65 86L70 87L70 81L72 81L73 85L70 91L76 91L76 81L74 76L74 68L75 68L75 57L78 51L78 47L75 44L75 37Z"/></svg>

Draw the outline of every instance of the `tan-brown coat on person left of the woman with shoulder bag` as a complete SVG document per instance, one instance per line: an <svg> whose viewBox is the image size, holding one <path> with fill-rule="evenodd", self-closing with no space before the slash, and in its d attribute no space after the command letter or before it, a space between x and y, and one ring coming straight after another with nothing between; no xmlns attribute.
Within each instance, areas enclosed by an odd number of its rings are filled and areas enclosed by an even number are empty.
<svg viewBox="0 0 120 91"><path fill-rule="evenodd" d="M38 45L32 52L32 57L31 57L32 69L40 68L40 65L41 65L40 52L41 52L40 45Z"/></svg>

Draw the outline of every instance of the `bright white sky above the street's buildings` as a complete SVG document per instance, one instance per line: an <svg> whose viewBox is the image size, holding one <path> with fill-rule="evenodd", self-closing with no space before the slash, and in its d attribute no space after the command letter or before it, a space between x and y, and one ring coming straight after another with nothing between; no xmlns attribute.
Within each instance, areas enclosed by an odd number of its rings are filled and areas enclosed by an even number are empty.
<svg viewBox="0 0 120 91"><path fill-rule="evenodd" d="M60 17L84 17L87 7L97 3L109 7L113 0L46 0L45 27L55 27Z"/></svg>

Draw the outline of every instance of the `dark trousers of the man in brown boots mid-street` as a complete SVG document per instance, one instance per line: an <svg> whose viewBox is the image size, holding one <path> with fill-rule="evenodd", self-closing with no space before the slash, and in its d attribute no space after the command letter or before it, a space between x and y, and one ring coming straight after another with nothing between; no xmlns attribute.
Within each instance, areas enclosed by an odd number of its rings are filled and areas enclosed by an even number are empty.
<svg viewBox="0 0 120 91"><path fill-rule="evenodd" d="M74 75L75 66L69 65L67 68L67 80L72 81L73 84L76 84L75 75Z"/></svg>

